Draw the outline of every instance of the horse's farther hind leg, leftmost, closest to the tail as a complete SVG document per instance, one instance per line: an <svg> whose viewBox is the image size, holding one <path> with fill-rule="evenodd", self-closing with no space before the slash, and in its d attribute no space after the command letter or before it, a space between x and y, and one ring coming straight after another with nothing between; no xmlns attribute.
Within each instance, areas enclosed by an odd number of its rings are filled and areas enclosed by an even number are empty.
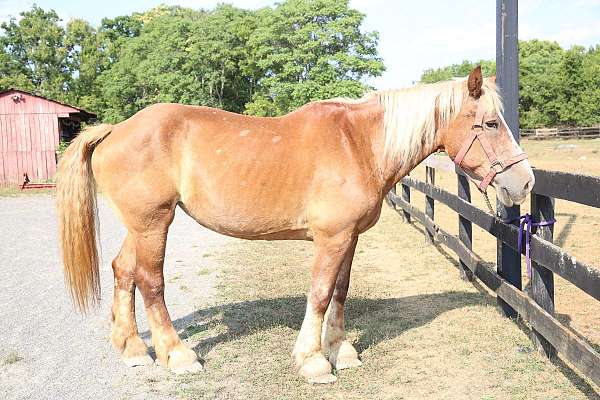
<svg viewBox="0 0 600 400"><path fill-rule="evenodd" d="M112 263L115 289L110 339L130 367L153 363L146 344L138 335L135 321L135 265L135 243L129 234Z"/></svg>

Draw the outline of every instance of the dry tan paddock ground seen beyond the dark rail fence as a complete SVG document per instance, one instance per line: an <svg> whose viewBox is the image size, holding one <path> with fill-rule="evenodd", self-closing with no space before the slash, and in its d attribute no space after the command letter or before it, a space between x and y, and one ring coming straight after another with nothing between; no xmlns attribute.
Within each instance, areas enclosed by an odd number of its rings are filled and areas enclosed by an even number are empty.
<svg viewBox="0 0 600 400"><path fill-rule="evenodd" d="M600 176L600 140L524 140L523 149L532 165L541 169ZM425 168L418 167L411 174L425 178ZM456 176L451 173L436 173L436 185L457 193ZM486 209L482 196L471 186L472 199ZM425 197L412 191L411 200L424 209ZM521 206L522 213L530 209L529 199ZM555 204L557 223L554 227L554 243L566 249L577 259L600 267L600 209L557 200ZM435 220L444 229L456 234L458 217L449 208L436 203ZM473 226L473 248L486 261L496 259L496 241ZM523 267L523 285L528 278ZM559 319L586 338L597 350L600 349L600 302L579 290L573 284L555 276L556 312Z"/></svg>

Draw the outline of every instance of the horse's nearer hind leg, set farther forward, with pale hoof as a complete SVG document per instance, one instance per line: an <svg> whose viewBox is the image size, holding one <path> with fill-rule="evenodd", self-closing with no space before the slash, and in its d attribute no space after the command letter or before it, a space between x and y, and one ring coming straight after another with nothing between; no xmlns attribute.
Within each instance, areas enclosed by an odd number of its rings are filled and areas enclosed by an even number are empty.
<svg viewBox="0 0 600 400"><path fill-rule="evenodd" d="M144 298L152 343L160 363L175 373L197 372L202 370L198 357L177 335L164 299L163 262L172 218L167 216L166 226L161 227L161 222L155 220L152 230L135 234L135 283Z"/></svg>

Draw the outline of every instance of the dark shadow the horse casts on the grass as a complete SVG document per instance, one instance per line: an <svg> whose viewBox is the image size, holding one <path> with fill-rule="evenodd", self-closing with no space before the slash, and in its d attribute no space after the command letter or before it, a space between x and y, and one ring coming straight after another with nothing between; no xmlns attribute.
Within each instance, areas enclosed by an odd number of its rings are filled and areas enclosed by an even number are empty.
<svg viewBox="0 0 600 400"><path fill-rule="evenodd" d="M346 327L357 330L355 345L360 353L383 340L426 325L446 311L487 302L489 298L481 293L464 291L402 298L349 298L346 302ZM184 339L224 325L223 333L201 340L194 347L198 354L206 355L219 344L259 331L275 327L299 330L305 307L304 296L242 301L197 310L173 321L173 324Z"/></svg>

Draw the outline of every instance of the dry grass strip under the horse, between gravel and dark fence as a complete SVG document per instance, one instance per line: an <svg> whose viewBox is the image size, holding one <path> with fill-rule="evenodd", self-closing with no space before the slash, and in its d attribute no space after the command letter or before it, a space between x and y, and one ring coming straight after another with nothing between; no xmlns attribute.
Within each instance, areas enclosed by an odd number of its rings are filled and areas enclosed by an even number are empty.
<svg viewBox="0 0 600 400"><path fill-rule="evenodd" d="M215 254L218 298L187 316L183 335L206 371L178 378L186 399L598 399L559 361L530 351L523 324L458 278L456 260L385 208L361 236L347 301L348 337L363 367L331 386L296 374L311 244L243 242Z"/></svg>

